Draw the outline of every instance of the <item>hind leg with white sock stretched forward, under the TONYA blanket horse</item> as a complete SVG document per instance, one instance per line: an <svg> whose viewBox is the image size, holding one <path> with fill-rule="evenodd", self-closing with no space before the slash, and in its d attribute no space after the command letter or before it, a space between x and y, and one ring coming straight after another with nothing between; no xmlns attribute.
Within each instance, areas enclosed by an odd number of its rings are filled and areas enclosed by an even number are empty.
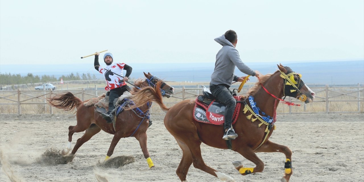
<svg viewBox="0 0 364 182"><path fill-rule="evenodd" d="M193 136L193 135L195 135L195 136ZM203 161L202 156L201 156L201 148L200 148L201 141L199 141L197 133L194 133L194 134L185 133L184 136L188 136L188 138L184 138L183 140L178 137L177 138L175 137L175 138L177 141L184 141L186 146L190 149L190 152L192 154L193 167L195 167L199 170L205 171L206 173L209 173L209 174L219 178L221 181L225 181L225 182L234 181L234 179L232 177L229 177L226 174L220 173L217 170L215 170L205 164L205 162ZM188 164L188 162L186 162L186 164ZM181 170L183 170L183 169L181 169ZM181 181L182 181L182 179L181 179Z"/></svg>

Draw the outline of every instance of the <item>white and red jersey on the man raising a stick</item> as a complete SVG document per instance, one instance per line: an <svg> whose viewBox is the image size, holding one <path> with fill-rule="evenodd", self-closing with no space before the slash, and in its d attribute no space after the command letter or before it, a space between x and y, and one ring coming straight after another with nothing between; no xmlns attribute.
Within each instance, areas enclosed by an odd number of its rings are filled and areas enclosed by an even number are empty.
<svg viewBox="0 0 364 182"><path fill-rule="evenodd" d="M106 66L105 69L102 67L99 67L99 72L104 75L106 83L107 83L105 90L111 90L111 89L122 87L122 86L126 85L126 83L123 81L121 81L119 83L120 80L123 80L123 77L121 77L121 76L124 76L123 75L124 66L125 66L125 63L112 63L112 64ZM115 75L114 73L107 71L107 70L110 70L121 76Z"/></svg>

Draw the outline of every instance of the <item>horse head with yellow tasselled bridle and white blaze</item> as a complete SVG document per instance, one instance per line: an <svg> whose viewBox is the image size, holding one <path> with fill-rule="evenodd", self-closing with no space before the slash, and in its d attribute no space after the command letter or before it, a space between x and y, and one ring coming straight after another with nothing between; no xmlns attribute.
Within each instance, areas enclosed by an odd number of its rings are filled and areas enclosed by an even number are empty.
<svg viewBox="0 0 364 182"><path fill-rule="evenodd" d="M309 103L315 98L313 92L302 80L302 75L291 70L288 66L278 65L280 77L284 79L283 95L290 96Z"/></svg>

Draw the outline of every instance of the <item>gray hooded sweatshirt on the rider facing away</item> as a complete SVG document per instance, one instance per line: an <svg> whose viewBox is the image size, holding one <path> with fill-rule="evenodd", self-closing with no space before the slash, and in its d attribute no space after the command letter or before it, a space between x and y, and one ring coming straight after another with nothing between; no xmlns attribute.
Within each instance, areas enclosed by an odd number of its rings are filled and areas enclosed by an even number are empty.
<svg viewBox="0 0 364 182"><path fill-rule="evenodd" d="M238 50L229 40L225 39L225 35L214 40L221 44L222 48L216 54L215 69L211 75L210 83L214 85L225 84L230 87L233 80L236 81L239 78L234 75L235 66L241 72L255 76L255 72L242 62Z"/></svg>

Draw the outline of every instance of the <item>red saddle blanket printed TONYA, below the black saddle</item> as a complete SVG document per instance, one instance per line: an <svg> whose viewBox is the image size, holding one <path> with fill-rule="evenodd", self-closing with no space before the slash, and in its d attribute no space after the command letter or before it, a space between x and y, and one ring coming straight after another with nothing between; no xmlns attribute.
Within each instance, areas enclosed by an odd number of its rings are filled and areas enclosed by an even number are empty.
<svg viewBox="0 0 364 182"><path fill-rule="evenodd" d="M241 100L241 96L234 96L238 101ZM233 124L236 122L241 103L237 102L233 114ZM193 109L193 118L202 123L222 125L225 121L225 106L219 102L213 100L209 105L196 98L196 104Z"/></svg>

